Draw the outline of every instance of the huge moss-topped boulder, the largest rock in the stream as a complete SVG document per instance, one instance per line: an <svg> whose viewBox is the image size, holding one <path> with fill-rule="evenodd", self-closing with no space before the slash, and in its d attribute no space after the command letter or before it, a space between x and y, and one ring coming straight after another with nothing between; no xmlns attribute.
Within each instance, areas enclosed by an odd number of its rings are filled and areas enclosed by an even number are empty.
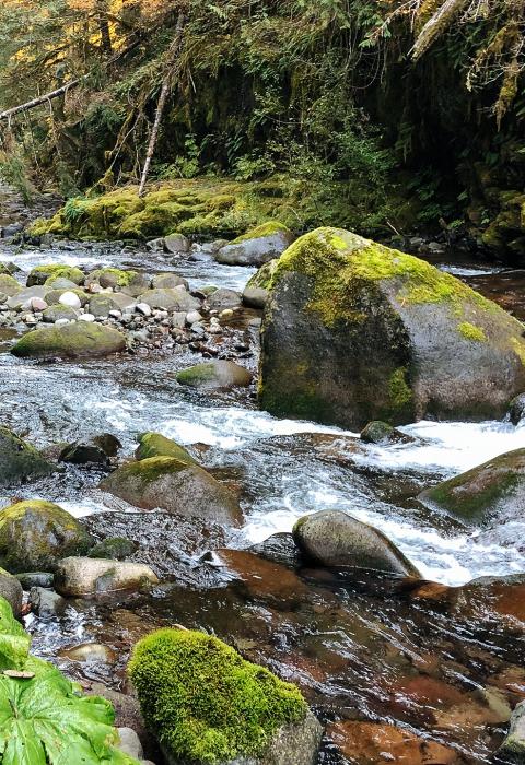
<svg viewBox="0 0 525 765"><path fill-rule="evenodd" d="M272 275L260 405L349 428L499 417L525 389L523 329L418 258L319 228Z"/></svg>

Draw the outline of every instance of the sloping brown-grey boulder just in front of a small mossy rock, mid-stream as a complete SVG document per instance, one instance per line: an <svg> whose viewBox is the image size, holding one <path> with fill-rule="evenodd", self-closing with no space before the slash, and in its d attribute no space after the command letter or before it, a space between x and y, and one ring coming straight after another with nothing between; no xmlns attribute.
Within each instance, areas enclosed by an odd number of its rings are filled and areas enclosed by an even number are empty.
<svg viewBox="0 0 525 765"><path fill-rule="evenodd" d="M101 489L136 507L160 508L219 523L237 525L234 494L198 464L173 457L150 457L118 468Z"/></svg>

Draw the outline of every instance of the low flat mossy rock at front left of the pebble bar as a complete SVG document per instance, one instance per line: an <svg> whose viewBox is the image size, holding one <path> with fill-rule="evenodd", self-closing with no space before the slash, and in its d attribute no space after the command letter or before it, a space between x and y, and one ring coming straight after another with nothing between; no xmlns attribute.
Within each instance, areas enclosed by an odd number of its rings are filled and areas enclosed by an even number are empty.
<svg viewBox="0 0 525 765"><path fill-rule="evenodd" d="M86 321L36 329L11 349L22 358L81 358L107 356L126 349L126 338L112 327Z"/></svg>

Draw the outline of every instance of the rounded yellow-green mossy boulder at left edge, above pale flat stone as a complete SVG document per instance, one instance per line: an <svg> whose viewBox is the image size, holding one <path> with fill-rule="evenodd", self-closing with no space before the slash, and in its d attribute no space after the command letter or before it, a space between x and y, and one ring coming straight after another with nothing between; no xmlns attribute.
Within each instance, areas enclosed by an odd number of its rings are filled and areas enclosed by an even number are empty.
<svg viewBox="0 0 525 765"><path fill-rule="evenodd" d="M0 511L0 565L9 572L48 572L92 546L83 526L50 502L27 499Z"/></svg>

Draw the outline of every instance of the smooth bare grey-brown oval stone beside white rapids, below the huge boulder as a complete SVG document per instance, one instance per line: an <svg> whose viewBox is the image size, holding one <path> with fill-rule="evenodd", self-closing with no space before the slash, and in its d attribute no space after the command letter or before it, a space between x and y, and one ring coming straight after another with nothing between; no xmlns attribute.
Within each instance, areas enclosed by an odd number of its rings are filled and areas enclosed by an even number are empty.
<svg viewBox="0 0 525 765"><path fill-rule="evenodd" d="M322 566L420 577L416 566L384 533L341 510L303 516L293 527L293 539L306 558Z"/></svg>

